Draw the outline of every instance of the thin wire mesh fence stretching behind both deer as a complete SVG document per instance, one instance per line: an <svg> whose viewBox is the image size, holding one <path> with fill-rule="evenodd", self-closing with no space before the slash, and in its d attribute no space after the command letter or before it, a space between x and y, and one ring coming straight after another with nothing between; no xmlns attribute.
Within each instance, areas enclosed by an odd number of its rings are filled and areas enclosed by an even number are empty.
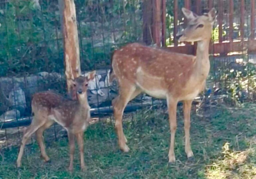
<svg viewBox="0 0 256 179"><path fill-rule="evenodd" d="M62 16L58 3L57 0L0 1L1 147L11 145L13 141L9 136L18 139L21 126L30 123L33 93L48 89L66 93ZM255 18L252 18L255 4L252 7L250 0L167 0L166 10L162 9L161 13L166 15L164 41L171 51L184 48L186 53L194 49L192 45L175 42L174 29L179 31L186 25L181 8L188 4L188 8L198 14L210 7L215 7L219 13L212 32L212 42L218 43L210 46L211 71L207 81L212 95L225 95L232 103L253 100L255 55L248 47L251 46L249 39L254 40L252 33L255 34ZM92 116L111 115L111 100L118 93L115 84L109 84L111 53L126 43L145 41L143 21L145 17L153 18L154 9L144 9L142 0L76 0L75 5L82 73L97 70L97 77L88 91ZM231 24L233 28L230 28ZM153 25L149 24L149 31ZM148 43L154 44L153 36L147 38ZM231 47L229 43L225 44L231 40L234 42ZM239 41L238 45L236 41ZM226 46L231 49L229 54L220 54ZM237 52L237 46L242 50ZM126 110L139 109L143 104L162 103L140 95ZM57 128L54 126L53 129L55 138Z"/></svg>

